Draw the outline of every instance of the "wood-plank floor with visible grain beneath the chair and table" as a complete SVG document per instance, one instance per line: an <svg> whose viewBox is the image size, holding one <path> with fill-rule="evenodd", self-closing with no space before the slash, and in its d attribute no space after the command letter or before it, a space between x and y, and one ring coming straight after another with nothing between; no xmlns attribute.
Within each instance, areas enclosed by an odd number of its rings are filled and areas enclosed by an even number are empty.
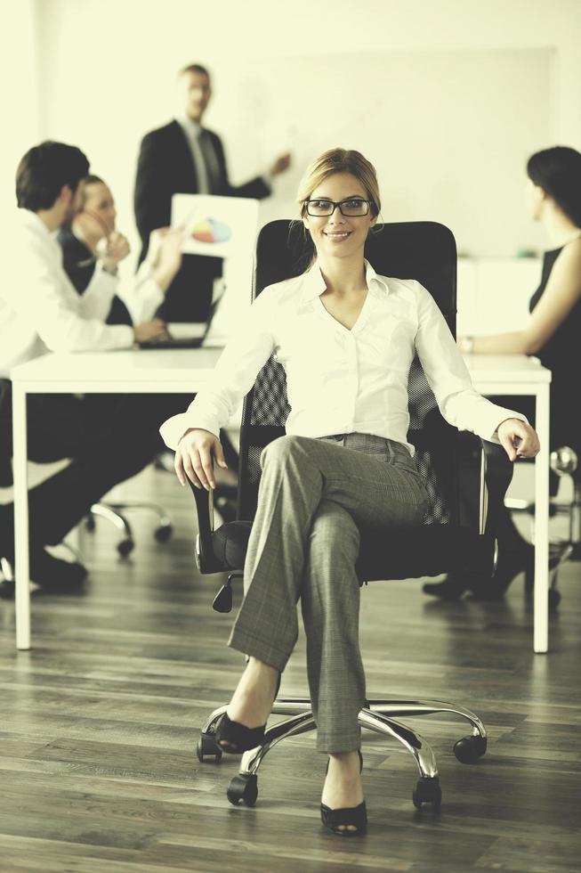
<svg viewBox="0 0 581 873"><path fill-rule="evenodd" d="M30 652L16 654L13 604L0 601L2 873L581 869L581 565L561 571L548 656L532 654L521 580L487 605L431 602L416 581L364 589L369 695L455 700L480 714L489 745L463 765L461 723L416 720L438 757L434 814L412 805L411 757L365 734L369 833L341 840L319 823L325 760L311 735L272 752L254 809L225 796L238 759L198 763L198 727L241 668L225 647L230 616L194 569L189 490L153 470L127 490L171 510L171 543L143 518L119 561L100 521L84 536L85 593L34 598ZM304 689L301 640L281 693Z"/></svg>

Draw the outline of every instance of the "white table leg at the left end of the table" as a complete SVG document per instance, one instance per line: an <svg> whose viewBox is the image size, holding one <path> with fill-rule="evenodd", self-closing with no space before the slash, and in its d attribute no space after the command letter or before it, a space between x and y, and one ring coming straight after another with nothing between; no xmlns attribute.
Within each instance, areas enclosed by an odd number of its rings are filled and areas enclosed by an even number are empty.
<svg viewBox="0 0 581 873"><path fill-rule="evenodd" d="M12 383L12 467L14 477L14 582L16 648L30 649L30 567L28 566L28 451L26 391Z"/></svg>

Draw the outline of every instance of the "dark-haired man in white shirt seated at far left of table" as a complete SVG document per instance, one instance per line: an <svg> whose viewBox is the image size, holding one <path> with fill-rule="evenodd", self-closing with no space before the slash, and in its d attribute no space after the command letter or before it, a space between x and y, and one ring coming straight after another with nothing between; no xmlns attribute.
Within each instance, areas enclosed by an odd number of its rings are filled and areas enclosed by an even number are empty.
<svg viewBox="0 0 581 873"><path fill-rule="evenodd" d="M112 273L118 251L97 265L82 297L62 269L53 233L80 208L88 169L79 149L47 142L30 149L17 170L19 209L5 249L9 279L0 289L0 485L10 484L13 366L49 351L130 348L165 334L159 320L134 328L105 323L117 288ZM108 414L102 412L102 405L76 396L28 398L28 457L41 463L71 459L29 495L31 577L45 589L79 583L85 570L52 559L44 545L61 542L93 502L143 469L160 448L158 412L151 414L141 400L109 398ZM7 504L0 507L0 556L13 555L13 508Z"/></svg>

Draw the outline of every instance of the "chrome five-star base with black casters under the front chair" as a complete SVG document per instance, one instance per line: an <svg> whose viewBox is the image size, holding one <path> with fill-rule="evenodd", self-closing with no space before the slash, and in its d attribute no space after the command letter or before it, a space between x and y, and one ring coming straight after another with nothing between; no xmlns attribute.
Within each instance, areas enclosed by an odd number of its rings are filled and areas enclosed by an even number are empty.
<svg viewBox="0 0 581 873"><path fill-rule="evenodd" d="M242 755L238 775L230 781L227 791L231 804L237 805L242 802L247 806L254 806L258 796L258 771L270 749L283 739L316 730L310 704L309 698L277 698L274 701L272 714L289 717L277 722L266 731L261 746ZM226 708L220 706L215 709L202 728L197 747L198 761L204 762L206 757L214 758L215 763L220 763L222 760L222 749L216 744L215 732ZM407 725L399 722L399 718L439 713L456 715L472 726L472 733L469 736L457 740L454 754L461 763L476 763L486 752L487 734L478 715L465 709L464 706L439 700L368 700L367 706L359 712L359 724L362 728L373 730L383 737L396 739L413 756L419 772L419 779L412 795L417 809L420 809L423 804L432 804L434 809L440 808L441 788L438 766L432 747L416 730L411 730Z"/></svg>

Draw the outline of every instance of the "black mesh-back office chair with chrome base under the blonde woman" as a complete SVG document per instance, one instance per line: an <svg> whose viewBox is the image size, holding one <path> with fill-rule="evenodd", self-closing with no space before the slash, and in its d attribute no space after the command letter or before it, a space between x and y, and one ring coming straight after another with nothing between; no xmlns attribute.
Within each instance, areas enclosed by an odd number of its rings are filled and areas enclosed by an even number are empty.
<svg viewBox="0 0 581 873"><path fill-rule="evenodd" d="M260 233L256 252L254 294L272 282L302 273L312 248L302 233L286 221L267 224ZM456 244L452 233L431 222L384 224L367 244L367 257L383 275L421 281L431 292L448 325L456 328ZM432 391L417 358L409 373L410 428L408 439L416 446L416 464L431 496L431 510L424 526L392 536L381 529L362 531L359 578L404 579L440 575L478 567L492 574L495 565L494 507L504 499L512 477L512 464L504 450L472 434L459 434L440 416ZM214 600L214 608L230 611L230 584L244 566L246 544L254 517L261 476L260 455L265 445L285 433L289 407L282 366L270 358L246 396L240 435L238 520L214 530L212 493L192 486L198 511L197 562L200 572L230 571L228 581ZM459 483L463 481L463 507ZM472 493L466 508L465 494ZM206 721L198 742L198 759L216 762L222 750L215 730L225 712L221 706ZM399 717L435 713L456 714L472 733L456 742L456 758L475 763L484 755L486 731L480 718L464 706L433 700L368 700L359 714L362 727L395 738L413 755L420 774L413 793L417 808L438 807L441 790L431 747ZM264 742L242 757L240 771L230 782L228 798L253 805L258 794L257 772L270 749L280 740L315 730L308 698L277 698L273 714L287 715L266 731Z"/></svg>

